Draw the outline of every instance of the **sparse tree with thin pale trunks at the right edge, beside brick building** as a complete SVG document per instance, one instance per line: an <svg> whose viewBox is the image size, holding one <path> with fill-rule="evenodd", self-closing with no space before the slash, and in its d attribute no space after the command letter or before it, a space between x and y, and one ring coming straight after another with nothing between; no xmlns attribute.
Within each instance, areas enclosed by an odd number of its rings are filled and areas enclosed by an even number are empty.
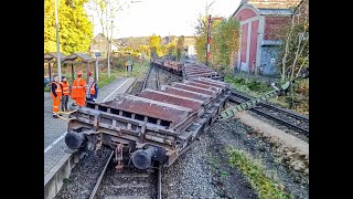
<svg viewBox="0 0 353 199"><path fill-rule="evenodd" d="M284 25L284 42L279 48L279 62L277 63L281 81L293 80L300 75L302 67L309 69L309 0L303 0L292 9L293 14L288 24ZM304 98L299 103L308 105L309 101L309 82L300 81L291 84L290 87L290 108L298 98Z"/></svg>

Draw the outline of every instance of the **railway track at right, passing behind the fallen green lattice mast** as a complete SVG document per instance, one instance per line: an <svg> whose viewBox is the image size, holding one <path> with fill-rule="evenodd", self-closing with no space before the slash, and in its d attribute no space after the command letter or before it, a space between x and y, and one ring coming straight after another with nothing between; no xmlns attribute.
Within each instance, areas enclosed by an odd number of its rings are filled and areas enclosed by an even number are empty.
<svg viewBox="0 0 353 199"><path fill-rule="evenodd" d="M236 104L253 100L242 93L232 91L229 101ZM266 103L259 103L258 106L250 109L252 112L263 115L271 121L282 124L291 129L298 130L309 137L309 117L297 113L276 107Z"/></svg>

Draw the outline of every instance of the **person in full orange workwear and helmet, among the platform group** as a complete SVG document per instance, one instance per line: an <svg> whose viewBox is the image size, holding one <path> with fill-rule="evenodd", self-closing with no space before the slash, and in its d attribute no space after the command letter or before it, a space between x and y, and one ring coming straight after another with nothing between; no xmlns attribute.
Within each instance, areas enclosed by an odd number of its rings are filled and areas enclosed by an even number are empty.
<svg viewBox="0 0 353 199"><path fill-rule="evenodd" d="M86 82L82 78L82 71L77 72L77 78L72 85L71 98L76 102L78 106L86 105Z"/></svg>

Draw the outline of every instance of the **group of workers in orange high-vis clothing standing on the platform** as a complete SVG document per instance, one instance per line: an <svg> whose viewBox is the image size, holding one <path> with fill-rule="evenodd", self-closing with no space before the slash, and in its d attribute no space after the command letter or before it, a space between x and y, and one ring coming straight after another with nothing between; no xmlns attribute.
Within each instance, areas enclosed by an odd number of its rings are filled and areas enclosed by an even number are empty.
<svg viewBox="0 0 353 199"><path fill-rule="evenodd" d="M60 104L62 112L68 112L67 103L68 98L75 101L77 106L85 106L86 101L95 102L98 96L98 86L92 76L92 72L88 72L88 83L83 80L83 72L77 72L77 77L73 84L69 85L66 81L66 76L62 76L62 82L58 82L58 76L54 75L53 82L51 82L51 94L53 98L53 117L58 118L62 116L58 113Z"/></svg>

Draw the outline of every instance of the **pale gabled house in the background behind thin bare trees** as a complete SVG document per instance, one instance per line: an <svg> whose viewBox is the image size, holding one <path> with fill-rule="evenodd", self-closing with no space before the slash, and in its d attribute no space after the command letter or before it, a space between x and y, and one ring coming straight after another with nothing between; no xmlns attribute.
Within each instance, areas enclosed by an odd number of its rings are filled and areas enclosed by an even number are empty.
<svg viewBox="0 0 353 199"><path fill-rule="evenodd" d="M92 39L89 52L92 54L100 52L103 57L107 57L108 44L109 42L107 38L99 33ZM118 44L116 44L114 41L111 41L111 52L118 52Z"/></svg>

